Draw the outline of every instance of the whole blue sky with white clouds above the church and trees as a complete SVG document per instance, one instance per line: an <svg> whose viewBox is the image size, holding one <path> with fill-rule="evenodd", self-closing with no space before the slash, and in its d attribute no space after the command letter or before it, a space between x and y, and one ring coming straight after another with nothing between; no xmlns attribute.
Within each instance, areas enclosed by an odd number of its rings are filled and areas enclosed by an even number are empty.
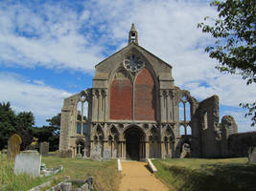
<svg viewBox="0 0 256 191"><path fill-rule="evenodd" d="M139 45L173 66L176 86L199 101L219 95L221 117L230 114L240 132L252 131L239 103L255 101L255 85L220 74L203 51L214 43L197 28L204 16L216 16L209 2L1 1L0 101L33 112L35 125L46 124L63 98L91 87L94 66L127 46L135 23Z"/></svg>

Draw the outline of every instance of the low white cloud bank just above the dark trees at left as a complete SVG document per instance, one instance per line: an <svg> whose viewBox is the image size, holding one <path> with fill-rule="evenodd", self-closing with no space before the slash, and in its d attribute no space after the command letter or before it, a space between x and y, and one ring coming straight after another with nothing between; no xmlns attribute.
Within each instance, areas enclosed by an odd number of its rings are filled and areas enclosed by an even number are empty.
<svg viewBox="0 0 256 191"><path fill-rule="evenodd" d="M1 101L10 101L15 112L31 111L35 115L36 124L43 124L46 118L60 113L63 98L71 96L66 91L43 83L29 83L18 74L0 73L0 90Z"/></svg>

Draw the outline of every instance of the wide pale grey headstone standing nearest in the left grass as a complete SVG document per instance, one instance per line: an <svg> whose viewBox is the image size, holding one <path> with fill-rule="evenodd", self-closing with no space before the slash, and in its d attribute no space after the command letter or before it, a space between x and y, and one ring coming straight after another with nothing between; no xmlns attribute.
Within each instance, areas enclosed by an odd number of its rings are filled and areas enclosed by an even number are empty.
<svg viewBox="0 0 256 191"><path fill-rule="evenodd" d="M25 173L31 177L40 176L41 155L35 150L21 152L15 158L14 174Z"/></svg>

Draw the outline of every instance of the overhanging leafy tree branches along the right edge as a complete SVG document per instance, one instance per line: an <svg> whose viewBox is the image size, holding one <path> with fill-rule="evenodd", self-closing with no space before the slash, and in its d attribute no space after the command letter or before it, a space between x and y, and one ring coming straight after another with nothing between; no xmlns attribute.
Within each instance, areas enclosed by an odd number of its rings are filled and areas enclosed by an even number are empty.
<svg viewBox="0 0 256 191"><path fill-rule="evenodd" d="M240 74L246 84L256 83L256 1L225 0L213 1L217 7L218 18L214 26L199 23L202 32L210 33L216 38L214 46L205 48L211 58L219 61L218 70L230 74ZM205 17L204 20L209 20ZM248 109L252 126L256 123L256 102L241 103Z"/></svg>

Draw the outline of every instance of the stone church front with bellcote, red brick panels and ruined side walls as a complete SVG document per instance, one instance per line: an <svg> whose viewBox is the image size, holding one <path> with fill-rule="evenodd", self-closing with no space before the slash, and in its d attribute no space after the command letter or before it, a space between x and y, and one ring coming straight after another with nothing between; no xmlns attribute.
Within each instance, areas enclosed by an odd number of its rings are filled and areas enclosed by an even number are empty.
<svg viewBox="0 0 256 191"><path fill-rule="evenodd" d="M219 97L198 101L175 86L172 66L138 45L95 66L93 87L64 99L59 151L72 157L119 159L221 158L237 133L233 117L219 116Z"/></svg>

